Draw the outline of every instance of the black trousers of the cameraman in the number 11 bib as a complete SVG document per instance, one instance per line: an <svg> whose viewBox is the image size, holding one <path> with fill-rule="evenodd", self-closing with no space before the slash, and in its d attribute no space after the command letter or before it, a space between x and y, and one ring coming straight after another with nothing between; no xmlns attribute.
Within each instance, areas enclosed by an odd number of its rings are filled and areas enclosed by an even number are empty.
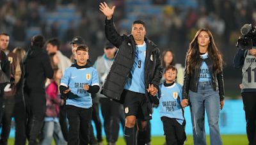
<svg viewBox="0 0 256 145"><path fill-rule="evenodd" d="M249 144L256 144L256 92L243 92L243 104L246 118L246 133Z"/></svg>

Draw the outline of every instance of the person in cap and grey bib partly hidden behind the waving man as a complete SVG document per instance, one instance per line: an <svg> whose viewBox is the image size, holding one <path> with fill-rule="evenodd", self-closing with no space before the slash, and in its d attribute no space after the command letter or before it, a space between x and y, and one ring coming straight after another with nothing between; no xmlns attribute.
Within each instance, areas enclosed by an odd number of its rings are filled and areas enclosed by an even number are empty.
<svg viewBox="0 0 256 145"><path fill-rule="evenodd" d="M116 54L116 47L108 41L104 45L104 55L97 58L94 67L99 74L100 87L104 83ZM109 145L116 143L119 133L121 104L109 99L100 92L96 94L100 99L101 113L104 119L104 131ZM93 104L97 105L97 104Z"/></svg>

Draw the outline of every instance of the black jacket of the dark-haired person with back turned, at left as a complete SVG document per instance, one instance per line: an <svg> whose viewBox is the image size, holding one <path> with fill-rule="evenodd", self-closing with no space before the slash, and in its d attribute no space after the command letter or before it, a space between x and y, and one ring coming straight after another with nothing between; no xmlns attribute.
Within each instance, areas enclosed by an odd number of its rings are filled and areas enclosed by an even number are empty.
<svg viewBox="0 0 256 145"><path fill-rule="evenodd" d="M25 89L45 92L46 78L52 78L53 70L47 53L38 46L31 46L28 50L25 67Z"/></svg>

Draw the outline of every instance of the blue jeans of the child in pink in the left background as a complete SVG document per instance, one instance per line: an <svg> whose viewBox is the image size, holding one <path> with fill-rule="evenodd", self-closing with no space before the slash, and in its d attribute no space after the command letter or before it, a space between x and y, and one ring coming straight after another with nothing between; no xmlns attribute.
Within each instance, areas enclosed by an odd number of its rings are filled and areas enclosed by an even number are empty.
<svg viewBox="0 0 256 145"><path fill-rule="evenodd" d="M56 145L67 145L61 132L60 123L54 121L45 121L43 127L43 139L40 144L49 145L52 142L52 137Z"/></svg>

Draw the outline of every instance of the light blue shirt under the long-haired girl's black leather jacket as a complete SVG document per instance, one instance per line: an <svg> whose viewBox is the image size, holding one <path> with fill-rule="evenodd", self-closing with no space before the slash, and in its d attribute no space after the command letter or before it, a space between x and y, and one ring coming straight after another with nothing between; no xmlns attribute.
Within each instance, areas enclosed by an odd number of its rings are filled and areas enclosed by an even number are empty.
<svg viewBox="0 0 256 145"><path fill-rule="evenodd" d="M202 59L208 58L208 53L200 55ZM206 62L203 60L202 65L200 67L199 72L199 80L198 81L211 81L211 74L209 72L209 67L207 66Z"/></svg>

